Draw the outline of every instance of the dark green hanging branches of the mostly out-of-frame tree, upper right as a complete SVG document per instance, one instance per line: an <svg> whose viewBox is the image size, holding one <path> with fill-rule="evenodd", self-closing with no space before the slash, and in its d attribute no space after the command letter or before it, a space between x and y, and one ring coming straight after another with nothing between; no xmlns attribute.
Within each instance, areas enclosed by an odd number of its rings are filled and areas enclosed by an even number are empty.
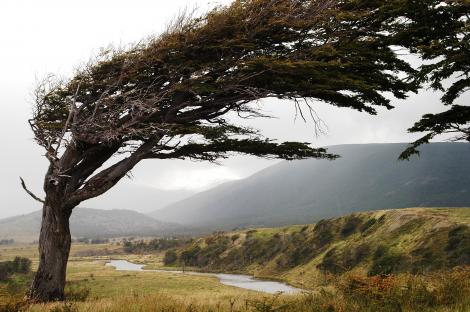
<svg viewBox="0 0 470 312"><path fill-rule="evenodd" d="M427 61L416 72L418 82L429 83L432 89L443 91L441 100L450 108L424 115L408 130L426 134L413 142L400 155L401 159L419 154L418 146L441 134L451 134L455 141L470 142L470 106L455 104L470 90L470 1L417 2L421 2L415 4L415 9L419 5L420 14L409 15L411 23L402 31L400 39L404 39L401 40L403 45Z"/></svg>

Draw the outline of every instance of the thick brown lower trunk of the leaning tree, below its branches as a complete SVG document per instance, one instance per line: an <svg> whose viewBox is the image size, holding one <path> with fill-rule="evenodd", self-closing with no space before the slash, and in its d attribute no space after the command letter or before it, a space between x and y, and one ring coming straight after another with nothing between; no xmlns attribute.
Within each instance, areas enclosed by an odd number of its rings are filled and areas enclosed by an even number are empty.
<svg viewBox="0 0 470 312"><path fill-rule="evenodd" d="M64 209L62 201L51 200L51 197L56 196L47 196L43 207L39 267L28 293L28 298L35 302L64 300L71 209Z"/></svg>

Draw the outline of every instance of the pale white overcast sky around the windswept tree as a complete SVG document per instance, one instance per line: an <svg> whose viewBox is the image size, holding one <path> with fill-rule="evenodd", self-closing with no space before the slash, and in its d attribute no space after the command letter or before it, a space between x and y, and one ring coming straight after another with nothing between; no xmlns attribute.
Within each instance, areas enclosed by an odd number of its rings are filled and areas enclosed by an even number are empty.
<svg viewBox="0 0 470 312"><path fill-rule="evenodd" d="M43 151L32 140L27 119L35 79L47 73L69 76L73 68L97 54L100 47L123 45L160 33L185 7L207 10L224 1L155 0L2 0L0 1L0 218L39 209L20 188L21 175L30 189L42 193L46 170ZM423 113L444 107L440 94L422 91L406 101L394 101L396 109L368 116L318 103L315 110L326 123L327 134L316 137L313 125L295 120L292 103L263 100L263 109L278 117L250 121L268 137L312 142L315 146L346 143L409 142L406 133ZM461 98L459 102L468 100ZM191 161L145 161L123 185L199 191L223 181L240 179L276 161L234 157L220 166ZM130 188L130 189L132 189ZM96 199L89 207L110 209L119 202L117 191ZM122 194L121 194L122 195ZM132 196L132 194L126 194ZM128 207L141 209L140 207Z"/></svg>

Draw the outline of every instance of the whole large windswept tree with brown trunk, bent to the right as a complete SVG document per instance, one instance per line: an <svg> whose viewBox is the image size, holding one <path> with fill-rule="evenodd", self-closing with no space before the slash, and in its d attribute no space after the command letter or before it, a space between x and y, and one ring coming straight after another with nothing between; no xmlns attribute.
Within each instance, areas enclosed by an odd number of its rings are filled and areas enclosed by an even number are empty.
<svg viewBox="0 0 470 312"><path fill-rule="evenodd" d="M334 159L307 143L266 139L227 114L265 117L252 105L263 98L292 100L306 112L311 101L369 114L391 109L385 93L405 98L416 86L405 80L413 69L390 46L397 21L381 14L387 3L237 0L103 53L69 80L40 84L30 124L50 165L45 199L28 191L43 202L29 298L64 298L73 208L142 160Z"/></svg>

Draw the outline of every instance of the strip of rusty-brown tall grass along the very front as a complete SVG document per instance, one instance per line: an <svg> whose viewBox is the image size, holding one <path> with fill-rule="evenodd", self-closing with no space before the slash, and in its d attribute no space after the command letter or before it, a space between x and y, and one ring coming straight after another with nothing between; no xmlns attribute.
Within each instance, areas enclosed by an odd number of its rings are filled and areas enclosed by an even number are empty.
<svg viewBox="0 0 470 312"><path fill-rule="evenodd" d="M470 311L470 267L427 275L365 277L346 274L331 286L295 296L249 294L214 298L211 293L172 296L160 292L66 303L26 305L10 302L0 311L81 312L398 312Z"/></svg>

